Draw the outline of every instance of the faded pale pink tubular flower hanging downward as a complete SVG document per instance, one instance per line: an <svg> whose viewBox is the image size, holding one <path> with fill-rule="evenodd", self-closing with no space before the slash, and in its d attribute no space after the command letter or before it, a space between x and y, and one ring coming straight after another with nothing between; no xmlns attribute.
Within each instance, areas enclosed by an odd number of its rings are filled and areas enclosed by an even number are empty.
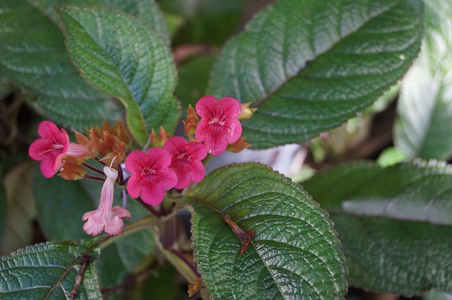
<svg viewBox="0 0 452 300"><path fill-rule="evenodd" d="M122 232L122 227L124 226L121 218L129 218L131 213L120 206L112 208L114 182L118 177L118 172L111 167L104 167L104 173L107 175L107 179L104 186L102 186L99 207L97 210L91 210L83 215L82 220L88 220L83 224L83 230L92 236L96 236L104 230L109 236L117 236Z"/></svg>

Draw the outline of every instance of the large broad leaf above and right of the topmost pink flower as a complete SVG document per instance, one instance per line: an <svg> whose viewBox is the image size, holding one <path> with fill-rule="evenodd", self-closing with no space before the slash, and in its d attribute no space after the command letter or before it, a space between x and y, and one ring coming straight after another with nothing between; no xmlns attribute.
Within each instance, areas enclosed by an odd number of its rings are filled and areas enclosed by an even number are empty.
<svg viewBox="0 0 452 300"><path fill-rule="evenodd" d="M309 140L396 84L420 48L422 1L280 0L231 40L210 94L258 107L254 148Z"/></svg>

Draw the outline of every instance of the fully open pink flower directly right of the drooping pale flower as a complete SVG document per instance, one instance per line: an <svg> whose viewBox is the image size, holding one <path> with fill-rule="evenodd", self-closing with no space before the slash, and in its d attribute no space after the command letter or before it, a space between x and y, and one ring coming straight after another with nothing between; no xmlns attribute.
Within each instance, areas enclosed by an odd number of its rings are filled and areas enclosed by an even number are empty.
<svg viewBox="0 0 452 300"><path fill-rule="evenodd" d="M165 198L165 189L177 183L172 169L171 155L162 148L150 148L148 152L135 150L126 158L126 169L131 173L127 190L133 198L141 196L145 203L158 205Z"/></svg>

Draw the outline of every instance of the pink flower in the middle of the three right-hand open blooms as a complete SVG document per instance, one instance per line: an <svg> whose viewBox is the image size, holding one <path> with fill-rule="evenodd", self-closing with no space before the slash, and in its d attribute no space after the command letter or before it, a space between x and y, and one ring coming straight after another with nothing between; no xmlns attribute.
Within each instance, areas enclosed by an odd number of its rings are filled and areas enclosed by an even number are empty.
<svg viewBox="0 0 452 300"><path fill-rule="evenodd" d="M171 153L169 167L177 175L175 188L186 188L190 182L200 182L204 178L204 165L201 162L207 156L207 148L198 142L187 142L185 138L174 136L163 146Z"/></svg>

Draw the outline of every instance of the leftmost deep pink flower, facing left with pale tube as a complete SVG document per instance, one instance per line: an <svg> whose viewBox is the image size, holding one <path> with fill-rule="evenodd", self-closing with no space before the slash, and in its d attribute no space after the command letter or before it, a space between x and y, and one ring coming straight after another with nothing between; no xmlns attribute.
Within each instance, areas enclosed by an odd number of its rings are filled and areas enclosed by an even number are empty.
<svg viewBox="0 0 452 300"><path fill-rule="evenodd" d="M41 162L40 169L44 177L50 178L57 174L65 156L81 156L85 154L83 145L69 143L69 136L51 121L42 121L37 128L41 138L35 140L28 149L32 160Z"/></svg>

